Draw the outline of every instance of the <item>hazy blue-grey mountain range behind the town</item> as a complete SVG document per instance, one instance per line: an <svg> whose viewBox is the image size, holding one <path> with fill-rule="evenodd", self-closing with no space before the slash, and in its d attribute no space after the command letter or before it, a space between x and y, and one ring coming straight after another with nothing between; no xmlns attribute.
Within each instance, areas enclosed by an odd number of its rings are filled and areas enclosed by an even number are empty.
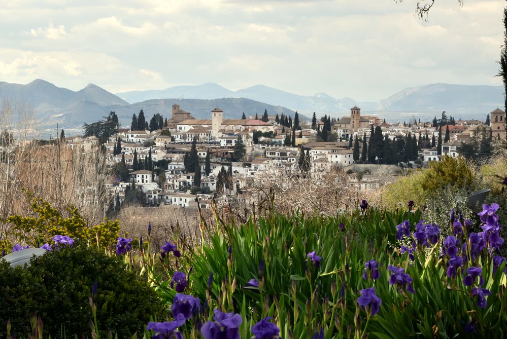
<svg viewBox="0 0 507 339"><path fill-rule="evenodd" d="M356 102L351 98L336 99L325 93L302 96L264 85L255 85L238 91L230 91L218 84L176 86L165 90L135 91L112 94L103 88L89 84L79 91L57 87L37 79L26 85L0 82L0 98L27 102L41 122L41 129L76 129L80 133L83 123L91 123L114 110L123 126L129 126L132 115L141 109L149 119L159 113L171 117L172 105L178 102L182 109L195 118L209 118L214 107L224 110L227 118L268 114L293 116L296 110L301 118L324 114L332 117L346 116L350 107L359 106L363 114L379 115L388 121L402 121L414 117L428 121L443 110L455 118L484 120L486 114L497 107L503 108L501 86L469 86L431 84L403 89L380 102Z"/></svg>

